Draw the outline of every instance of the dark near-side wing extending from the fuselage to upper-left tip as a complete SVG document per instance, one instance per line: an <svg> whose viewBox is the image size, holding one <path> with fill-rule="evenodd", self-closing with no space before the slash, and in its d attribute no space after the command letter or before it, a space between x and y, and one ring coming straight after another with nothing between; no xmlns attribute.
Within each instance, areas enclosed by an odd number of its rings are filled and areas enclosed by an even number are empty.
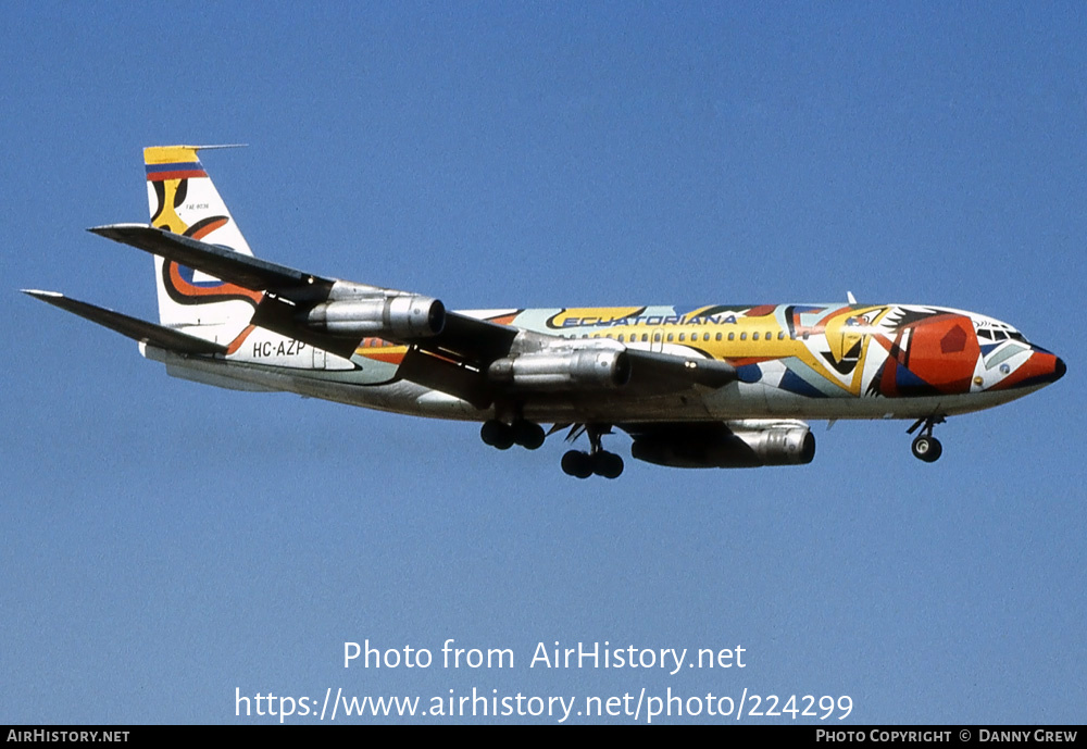
<svg viewBox="0 0 1087 749"><path fill-rule="evenodd" d="M528 358L563 345L576 346L579 351L598 348L594 341L572 344L559 336L523 332L510 325L447 312L434 299L305 273L153 226L113 224L88 230L226 283L263 291L264 297L252 317L254 325L340 357L350 358L366 336L407 345L409 351L398 376L463 398L479 408L486 408L502 392L503 386L496 385L488 375L488 367L511 355L518 335L532 338L526 349ZM390 315L396 314L390 304L401 302L402 324L398 327L390 323ZM424 309L436 315L435 319L440 317L440 326L427 327L420 323L426 315L412 320L412 311ZM735 369L725 362L599 341L601 349L609 345L623 351L629 362L629 379L624 387L632 395L675 392L692 385L721 387L736 379ZM549 361L553 362L554 358ZM558 366L563 364L560 362ZM518 386L514 383L513 387ZM533 386L524 386L522 391L532 392Z"/></svg>

